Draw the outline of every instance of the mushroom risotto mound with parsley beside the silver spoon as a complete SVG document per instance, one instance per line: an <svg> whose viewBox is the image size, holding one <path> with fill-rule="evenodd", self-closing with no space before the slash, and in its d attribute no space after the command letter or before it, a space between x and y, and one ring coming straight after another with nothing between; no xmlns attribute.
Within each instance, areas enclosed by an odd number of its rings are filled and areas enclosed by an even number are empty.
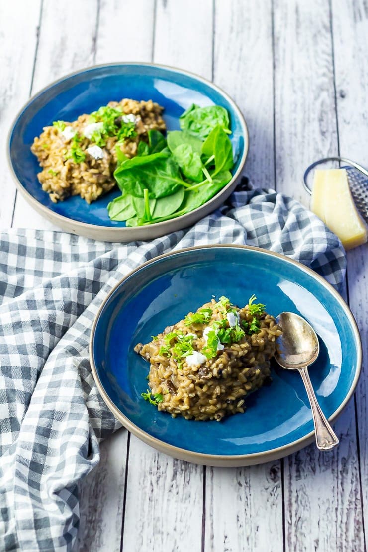
<svg viewBox="0 0 368 552"><path fill-rule="evenodd" d="M217 420L244 412L250 392L270 383L270 358L281 330L265 306L243 308L226 297L190 312L135 351L150 362L142 393L173 417Z"/></svg>

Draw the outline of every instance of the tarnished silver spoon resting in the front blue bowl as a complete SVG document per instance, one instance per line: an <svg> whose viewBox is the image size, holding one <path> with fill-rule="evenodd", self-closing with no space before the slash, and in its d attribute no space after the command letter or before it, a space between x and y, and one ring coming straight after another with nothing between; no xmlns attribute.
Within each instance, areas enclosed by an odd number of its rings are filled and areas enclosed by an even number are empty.
<svg viewBox="0 0 368 552"><path fill-rule="evenodd" d="M339 443L339 439L317 402L308 374L308 365L316 360L319 353L316 332L294 312L281 312L276 322L281 327L282 335L278 338L280 351L275 353L275 359L282 368L300 373L312 408L317 448L332 449Z"/></svg>

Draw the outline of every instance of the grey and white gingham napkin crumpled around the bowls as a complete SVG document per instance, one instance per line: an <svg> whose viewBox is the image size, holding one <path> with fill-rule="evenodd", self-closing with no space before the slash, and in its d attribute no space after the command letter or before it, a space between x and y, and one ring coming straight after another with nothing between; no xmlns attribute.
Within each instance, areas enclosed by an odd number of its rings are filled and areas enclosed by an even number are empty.
<svg viewBox="0 0 368 552"><path fill-rule="evenodd" d="M0 235L0 547L71 550L78 482L119 423L98 394L88 341L94 316L125 274L158 254L210 243L284 253L335 288L345 253L297 201L240 185L220 210L151 242L104 243L61 232Z"/></svg>

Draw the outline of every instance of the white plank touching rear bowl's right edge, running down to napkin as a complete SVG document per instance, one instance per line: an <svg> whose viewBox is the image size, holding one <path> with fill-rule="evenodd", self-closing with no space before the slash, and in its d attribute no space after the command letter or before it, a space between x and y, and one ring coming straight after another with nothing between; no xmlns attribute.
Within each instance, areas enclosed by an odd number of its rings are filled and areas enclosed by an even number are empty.
<svg viewBox="0 0 368 552"><path fill-rule="evenodd" d="M214 82L247 121L244 173L258 188L274 187L271 1L215 3Z"/></svg>

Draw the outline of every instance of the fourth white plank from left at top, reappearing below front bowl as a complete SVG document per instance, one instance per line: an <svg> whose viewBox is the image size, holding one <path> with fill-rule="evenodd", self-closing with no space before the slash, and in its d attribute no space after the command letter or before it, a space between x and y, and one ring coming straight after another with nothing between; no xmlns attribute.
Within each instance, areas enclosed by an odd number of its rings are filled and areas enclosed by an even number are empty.
<svg viewBox="0 0 368 552"><path fill-rule="evenodd" d="M212 38L195 29L206 28L212 20L212 3L195 3L196 18L189 8L193 2L157 2L154 62L191 67L211 76ZM206 9L205 9L206 8ZM193 37L196 39L193 40ZM177 40L182 47L177 48ZM209 52L199 61L198 46ZM147 61L150 57L147 55ZM156 452L131 437L122 550L175 550L199 552L202 535L203 468Z"/></svg>

